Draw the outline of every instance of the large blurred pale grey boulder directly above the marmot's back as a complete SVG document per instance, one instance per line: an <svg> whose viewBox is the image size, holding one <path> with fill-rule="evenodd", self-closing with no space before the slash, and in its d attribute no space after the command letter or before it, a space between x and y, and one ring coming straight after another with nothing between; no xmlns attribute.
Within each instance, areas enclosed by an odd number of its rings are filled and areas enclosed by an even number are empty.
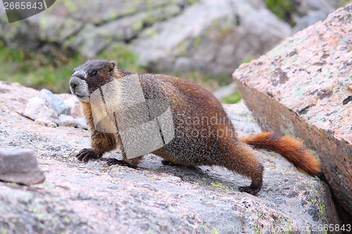
<svg viewBox="0 0 352 234"><path fill-rule="evenodd" d="M155 70L230 73L290 34L263 1L207 0L144 30L132 41L139 63Z"/></svg>

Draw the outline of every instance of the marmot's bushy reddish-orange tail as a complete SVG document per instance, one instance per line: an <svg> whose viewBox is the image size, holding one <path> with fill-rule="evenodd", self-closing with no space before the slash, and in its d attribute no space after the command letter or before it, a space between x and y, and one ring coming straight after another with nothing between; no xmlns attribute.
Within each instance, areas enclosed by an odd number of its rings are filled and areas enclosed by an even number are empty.
<svg viewBox="0 0 352 234"><path fill-rule="evenodd" d="M294 164L298 169L306 171L311 176L321 172L320 161L303 148L300 141L290 136L280 136L268 131L251 136L239 136L239 141L252 145L254 148L264 148L275 151Z"/></svg>

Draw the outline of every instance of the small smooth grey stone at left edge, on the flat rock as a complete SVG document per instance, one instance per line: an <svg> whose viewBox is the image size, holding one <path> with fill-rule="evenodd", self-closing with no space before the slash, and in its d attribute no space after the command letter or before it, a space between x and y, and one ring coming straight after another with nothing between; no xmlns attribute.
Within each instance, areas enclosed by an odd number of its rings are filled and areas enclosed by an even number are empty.
<svg viewBox="0 0 352 234"><path fill-rule="evenodd" d="M45 176L38 167L33 150L0 150L0 181L32 186L43 183Z"/></svg>

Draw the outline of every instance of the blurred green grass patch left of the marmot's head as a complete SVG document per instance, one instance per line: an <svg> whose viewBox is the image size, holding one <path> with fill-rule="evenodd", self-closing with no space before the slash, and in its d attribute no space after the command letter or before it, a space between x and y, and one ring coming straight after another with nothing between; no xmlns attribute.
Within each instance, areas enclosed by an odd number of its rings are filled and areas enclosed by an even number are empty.
<svg viewBox="0 0 352 234"><path fill-rule="evenodd" d="M85 61L73 54L64 56L46 56L24 48L12 49L0 41L0 74L1 80L18 82L35 89L50 89L54 92L65 92L73 67Z"/></svg>

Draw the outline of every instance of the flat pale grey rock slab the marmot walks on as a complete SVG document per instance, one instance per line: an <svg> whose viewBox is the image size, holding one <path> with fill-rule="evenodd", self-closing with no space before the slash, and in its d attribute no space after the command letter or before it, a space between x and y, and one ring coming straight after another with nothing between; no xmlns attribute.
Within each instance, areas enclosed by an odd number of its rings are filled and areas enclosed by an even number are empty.
<svg viewBox="0 0 352 234"><path fill-rule="evenodd" d="M39 91L0 90L0 148L33 148L46 175L31 187L0 183L2 233L310 233L339 222L325 183L276 153L256 151L265 167L256 196L238 192L249 179L219 167L168 167L155 155L138 169L82 163L75 154L89 147L88 131L34 124L18 113ZM239 134L260 131L243 103L225 108Z"/></svg>

